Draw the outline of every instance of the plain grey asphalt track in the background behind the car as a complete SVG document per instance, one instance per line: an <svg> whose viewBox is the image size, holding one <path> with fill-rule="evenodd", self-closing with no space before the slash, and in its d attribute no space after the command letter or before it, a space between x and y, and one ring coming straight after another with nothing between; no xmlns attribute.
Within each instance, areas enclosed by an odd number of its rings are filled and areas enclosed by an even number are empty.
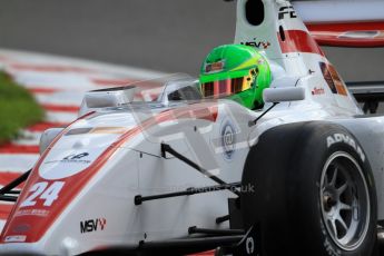
<svg viewBox="0 0 384 256"><path fill-rule="evenodd" d="M0 0L0 48L197 75L233 42L236 2ZM384 80L384 49L325 48L345 80Z"/></svg>

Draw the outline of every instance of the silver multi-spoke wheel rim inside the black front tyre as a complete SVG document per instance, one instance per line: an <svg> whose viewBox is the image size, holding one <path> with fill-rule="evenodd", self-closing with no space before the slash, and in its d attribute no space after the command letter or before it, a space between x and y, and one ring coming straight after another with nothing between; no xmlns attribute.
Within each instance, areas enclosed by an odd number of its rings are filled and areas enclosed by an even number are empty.
<svg viewBox="0 0 384 256"><path fill-rule="evenodd" d="M344 250L357 248L370 224L370 195L358 163L346 152L326 161L321 179L322 216L327 233Z"/></svg>

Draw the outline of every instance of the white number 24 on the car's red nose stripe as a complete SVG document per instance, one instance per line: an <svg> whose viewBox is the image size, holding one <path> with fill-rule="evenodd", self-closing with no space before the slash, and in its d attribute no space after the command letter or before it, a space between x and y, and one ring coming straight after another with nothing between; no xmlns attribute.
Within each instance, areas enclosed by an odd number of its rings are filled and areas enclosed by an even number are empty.
<svg viewBox="0 0 384 256"><path fill-rule="evenodd" d="M59 197L59 193L63 187L63 181L55 181L49 186L49 183L42 181L35 184L29 193L32 193L24 201L21 203L20 207L35 206L37 199L43 199L43 206L51 206L52 203Z"/></svg>

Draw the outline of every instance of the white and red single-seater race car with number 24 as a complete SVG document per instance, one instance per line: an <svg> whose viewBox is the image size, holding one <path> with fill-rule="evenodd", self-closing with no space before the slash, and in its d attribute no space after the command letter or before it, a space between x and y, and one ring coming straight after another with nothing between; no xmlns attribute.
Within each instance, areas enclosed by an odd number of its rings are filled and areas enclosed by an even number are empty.
<svg viewBox="0 0 384 256"><path fill-rule="evenodd" d="M343 21L334 12L325 19ZM311 28L319 42L383 45L383 31L325 40ZM235 42L268 60L263 109L204 99L180 76L88 92L80 117L47 130L35 167L0 189L16 201L0 254L378 255L384 117L364 115L288 1L238 0Z"/></svg>

